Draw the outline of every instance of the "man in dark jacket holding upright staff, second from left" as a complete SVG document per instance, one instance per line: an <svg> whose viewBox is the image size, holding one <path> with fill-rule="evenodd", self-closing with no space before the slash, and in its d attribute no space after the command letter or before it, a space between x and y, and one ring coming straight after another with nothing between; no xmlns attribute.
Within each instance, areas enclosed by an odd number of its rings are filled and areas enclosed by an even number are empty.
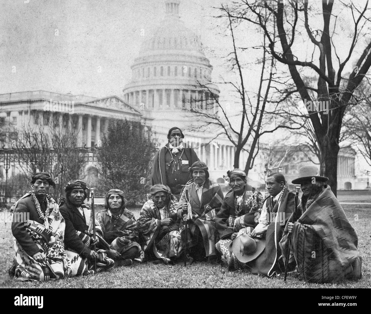
<svg viewBox="0 0 371 314"><path fill-rule="evenodd" d="M114 261L107 257L109 244L103 239L98 221L95 222L96 238L93 238L92 211L84 204L88 197L86 184L81 180L71 181L65 186L65 192L59 209L66 221L65 249L72 276L112 269ZM101 249L93 250L94 245Z"/></svg>

